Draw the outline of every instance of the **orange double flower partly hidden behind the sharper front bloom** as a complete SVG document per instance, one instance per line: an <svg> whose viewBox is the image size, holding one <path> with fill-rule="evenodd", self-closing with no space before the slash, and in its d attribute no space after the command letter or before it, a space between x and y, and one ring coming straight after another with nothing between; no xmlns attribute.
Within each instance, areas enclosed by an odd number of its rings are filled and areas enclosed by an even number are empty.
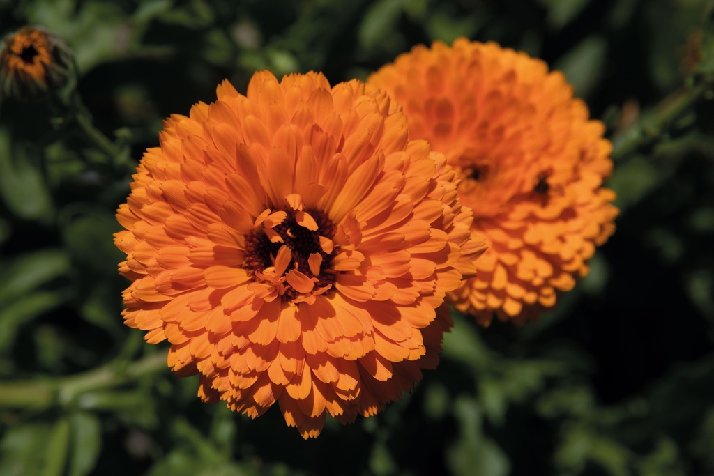
<svg viewBox="0 0 714 476"><path fill-rule="evenodd" d="M488 325L522 323L573 288L615 230L605 128L558 71L526 54L458 39L416 46L368 79L403 105L412 138L446 154L488 250L451 293Z"/></svg>

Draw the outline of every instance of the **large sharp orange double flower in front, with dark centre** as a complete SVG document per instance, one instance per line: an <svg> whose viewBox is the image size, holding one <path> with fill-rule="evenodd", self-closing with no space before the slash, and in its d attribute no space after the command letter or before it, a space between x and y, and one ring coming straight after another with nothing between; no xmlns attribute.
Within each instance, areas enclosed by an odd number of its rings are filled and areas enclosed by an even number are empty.
<svg viewBox="0 0 714 476"><path fill-rule="evenodd" d="M242 96L224 81L166 120L117 214L126 325L169 340L203 400L251 417L277 401L305 438L436 365L446 293L483 251L446 158L364 89L263 71Z"/></svg>

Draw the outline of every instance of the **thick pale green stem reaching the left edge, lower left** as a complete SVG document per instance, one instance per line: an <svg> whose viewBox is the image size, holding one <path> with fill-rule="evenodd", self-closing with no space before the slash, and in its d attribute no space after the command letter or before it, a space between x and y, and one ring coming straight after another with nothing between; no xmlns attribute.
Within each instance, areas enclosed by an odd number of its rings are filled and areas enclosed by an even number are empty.
<svg viewBox="0 0 714 476"><path fill-rule="evenodd" d="M154 353L132 363L109 363L100 368L61 378L0 383L0 408L46 408L72 405L83 394L129 383L166 370L166 355Z"/></svg>

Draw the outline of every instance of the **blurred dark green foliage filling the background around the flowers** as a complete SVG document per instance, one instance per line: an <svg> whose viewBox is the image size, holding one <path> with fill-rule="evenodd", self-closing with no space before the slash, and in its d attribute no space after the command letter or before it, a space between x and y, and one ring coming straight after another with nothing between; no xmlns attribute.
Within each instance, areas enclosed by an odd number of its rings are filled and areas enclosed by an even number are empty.
<svg viewBox="0 0 714 476"><path fill-rule="evenodd" d="M86 105L0 106L0 475L714 474L711 8L0 0L0 34L66 41ZM411 395L318 440L276 408L250 421L201 404L164 347L121 325L114 210L162 119L224 78L363 79L457 36L545 59L608 126L622 213L592 273L538 323L455 315Z"/></svg>

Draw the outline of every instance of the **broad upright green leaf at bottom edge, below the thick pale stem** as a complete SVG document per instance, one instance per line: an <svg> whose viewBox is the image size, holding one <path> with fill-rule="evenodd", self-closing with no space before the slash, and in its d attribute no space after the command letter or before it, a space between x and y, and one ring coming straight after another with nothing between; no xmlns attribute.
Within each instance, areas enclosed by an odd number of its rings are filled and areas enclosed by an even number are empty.
<svg viewBox="0 0 714 476"><path fill-rule="evenodd" d="M101 449L101 424L99 418L86 412L70 416L72 448L69 476L89 475L94 469Z"/></svg>

